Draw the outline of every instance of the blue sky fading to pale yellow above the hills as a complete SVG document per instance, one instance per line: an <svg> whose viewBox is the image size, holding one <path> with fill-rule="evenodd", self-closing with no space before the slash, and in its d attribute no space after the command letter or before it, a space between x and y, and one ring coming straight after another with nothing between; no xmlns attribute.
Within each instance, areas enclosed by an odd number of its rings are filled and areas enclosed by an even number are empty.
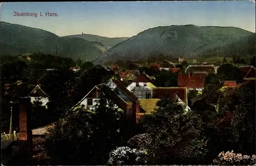
<svg viewBox="0 0 256 166"><path fill-rule="evenodd" d="M255 1L15 2L1 3L0 11L1 21L58 36L132 37L152 27L185 24L234 26L255 33ZM14 12L37 13L37 17L14 16Z"/></svg>

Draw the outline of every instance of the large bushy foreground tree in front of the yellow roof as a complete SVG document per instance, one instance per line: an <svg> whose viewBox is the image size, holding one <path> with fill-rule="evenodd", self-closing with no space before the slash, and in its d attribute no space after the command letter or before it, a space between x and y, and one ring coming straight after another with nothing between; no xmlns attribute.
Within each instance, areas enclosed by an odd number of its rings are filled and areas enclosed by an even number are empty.
<svg viewBox="0 0 256 166"><path fill-rule="evenodd" d="M200 163L207 151L200 118L195 114L184 114L184 107L177 100L163 98L157 106L155 112L140 120L147 139L137 143L137 148L146 150L147 163Z"/></svg>

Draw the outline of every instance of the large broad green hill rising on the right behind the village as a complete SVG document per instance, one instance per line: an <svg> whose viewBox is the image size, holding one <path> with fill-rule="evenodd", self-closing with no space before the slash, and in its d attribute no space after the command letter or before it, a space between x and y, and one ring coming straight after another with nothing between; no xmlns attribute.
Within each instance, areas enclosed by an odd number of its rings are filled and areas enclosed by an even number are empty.
<svg viewBox="0 0 256 166"><path fill-rule="evenodd" d="M255 54L255 33L237 27L172 25L159 26L123 41L94 63L108 60L138 60L154 55L177 58L247 56Z"/></svg>

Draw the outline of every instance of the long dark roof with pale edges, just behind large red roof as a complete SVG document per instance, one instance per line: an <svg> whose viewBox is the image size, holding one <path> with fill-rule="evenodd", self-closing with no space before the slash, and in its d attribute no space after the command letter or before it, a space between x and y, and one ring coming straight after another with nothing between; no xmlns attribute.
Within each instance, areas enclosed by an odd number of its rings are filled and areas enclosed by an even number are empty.
<svg viewBox="0 0 256 166"><path fill-rule="evenodd" d="M190 72L207 72L207 73L217 73L217 69L214 65L188 65L185 73Z"/></svg>

